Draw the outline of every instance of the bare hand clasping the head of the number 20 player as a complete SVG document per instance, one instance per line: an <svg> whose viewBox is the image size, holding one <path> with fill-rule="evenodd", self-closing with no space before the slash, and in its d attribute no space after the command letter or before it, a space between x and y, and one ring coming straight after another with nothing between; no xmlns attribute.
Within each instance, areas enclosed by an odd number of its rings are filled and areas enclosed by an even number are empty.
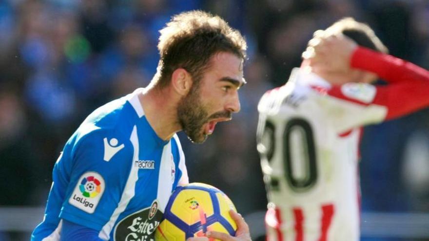
<svg viewBox="0 0 429 241"><path fill-rule="evenodd" d="M302 54L315 73L347 72L357 44L342 34L327 36L324 31L314 32Z"/></svg>

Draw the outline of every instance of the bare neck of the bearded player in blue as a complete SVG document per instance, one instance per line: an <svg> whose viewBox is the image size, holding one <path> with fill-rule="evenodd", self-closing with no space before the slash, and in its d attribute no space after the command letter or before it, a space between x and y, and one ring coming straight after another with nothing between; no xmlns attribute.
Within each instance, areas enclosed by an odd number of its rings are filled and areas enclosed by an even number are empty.
<svg viewBox="0 0 429 241"><path fill-rule="evenodd" d="M159 90L158 88L147 89L138 96L146 119L156 135L166 141L181 130L177 121L176 96L170 93L169 88Z"/></svg>

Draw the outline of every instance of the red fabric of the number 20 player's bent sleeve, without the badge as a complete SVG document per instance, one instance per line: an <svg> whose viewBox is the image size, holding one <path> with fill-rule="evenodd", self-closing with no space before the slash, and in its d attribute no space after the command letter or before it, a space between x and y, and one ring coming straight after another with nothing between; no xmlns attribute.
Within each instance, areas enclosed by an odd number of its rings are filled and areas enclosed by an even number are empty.
<svg viewBox="0 0 429 241"><path fill-rule="evenodd" d="M366 61L370 59L371 61ZM388 110L386 120L407 115L429 106L429 72L400 58L358 48L352 67L373 72L388 81L377 87L372 101Z"/></svg>

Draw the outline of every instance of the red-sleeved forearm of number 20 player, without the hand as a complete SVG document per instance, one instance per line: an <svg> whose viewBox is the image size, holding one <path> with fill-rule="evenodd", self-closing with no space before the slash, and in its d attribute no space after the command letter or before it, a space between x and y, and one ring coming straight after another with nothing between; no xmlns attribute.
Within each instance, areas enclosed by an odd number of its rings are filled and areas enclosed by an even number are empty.
<svg viewBox="0 0 429 241"><path fill-rule="evenodd" d="M429 81L429 72L403 59L359 47L351 56L351 67L377 74L388 82Z"/></svg>

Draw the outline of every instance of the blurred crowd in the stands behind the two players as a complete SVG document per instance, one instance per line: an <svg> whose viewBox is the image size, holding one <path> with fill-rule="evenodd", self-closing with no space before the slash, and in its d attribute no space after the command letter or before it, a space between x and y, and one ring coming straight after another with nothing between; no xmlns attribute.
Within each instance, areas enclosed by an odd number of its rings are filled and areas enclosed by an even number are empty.
<svg viewBox="0 0 429 241"><path fill-rule="evenodd" d="M243 215L267 204L257 102L300 65L315 30L351 16L390 54L429 68L428 0L0 0L1 206L45 205L69 136L97 107L149 83L158 30L191 9L220 15L249 44L241 112L202 145L180 134L190 181L222 189ZM429 211L429 110L366 128L361 156L363 211Z"/></svg>

